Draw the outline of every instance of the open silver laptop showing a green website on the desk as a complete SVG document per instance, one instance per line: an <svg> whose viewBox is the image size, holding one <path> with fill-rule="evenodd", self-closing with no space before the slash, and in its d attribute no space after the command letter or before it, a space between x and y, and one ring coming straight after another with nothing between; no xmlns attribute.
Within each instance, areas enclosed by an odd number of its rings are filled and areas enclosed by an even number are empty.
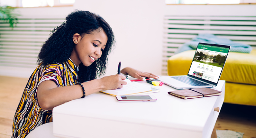
<svg viewBox="0 0 256 138"><path fill-rule="evenodd" d="M176 89L207 88L218 84L230 46L199 43L188 75L159 76L158 80Z"/></svg>

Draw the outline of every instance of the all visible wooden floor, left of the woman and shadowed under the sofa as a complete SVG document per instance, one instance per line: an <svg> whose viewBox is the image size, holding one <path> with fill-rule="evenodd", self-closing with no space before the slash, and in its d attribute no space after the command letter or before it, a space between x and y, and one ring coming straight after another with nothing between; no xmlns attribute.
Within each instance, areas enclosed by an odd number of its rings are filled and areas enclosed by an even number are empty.
<svg viewBox="0 0 256 138"><path fill-rule="evenodd" d="M0 138L11 136L13 116L27 81L0 76ZM243 138L256 138L256 107L223 103L215 128L243 132Z"/></svg>

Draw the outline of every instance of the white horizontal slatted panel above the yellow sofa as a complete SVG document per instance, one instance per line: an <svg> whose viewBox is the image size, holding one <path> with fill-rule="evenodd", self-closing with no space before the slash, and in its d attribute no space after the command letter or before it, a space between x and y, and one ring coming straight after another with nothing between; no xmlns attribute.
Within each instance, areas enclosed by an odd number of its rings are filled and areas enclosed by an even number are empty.
<svg viewBox="0 0 256 138"><path fill-rule="evenodd" d="M167 60L177 48L200 33L214 34L256 48L256 17L164 16L162 75L167 75Z"/></svg>

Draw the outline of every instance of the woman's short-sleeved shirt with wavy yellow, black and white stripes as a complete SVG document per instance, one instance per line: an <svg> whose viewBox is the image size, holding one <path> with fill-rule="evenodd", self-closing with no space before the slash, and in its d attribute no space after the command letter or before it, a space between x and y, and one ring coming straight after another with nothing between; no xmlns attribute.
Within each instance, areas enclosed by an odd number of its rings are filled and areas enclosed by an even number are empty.
<svg viewBox="0 0 256 138"><path fill-rule="evenodd" d="M37 101L37 88L45 80L52 80L57 87L75 85L77 69L71 59L63 63L44 66L40 63L30 76L13 118L12 138L24 138L36 127L52 122L52 110L43 110Z"/></svg>

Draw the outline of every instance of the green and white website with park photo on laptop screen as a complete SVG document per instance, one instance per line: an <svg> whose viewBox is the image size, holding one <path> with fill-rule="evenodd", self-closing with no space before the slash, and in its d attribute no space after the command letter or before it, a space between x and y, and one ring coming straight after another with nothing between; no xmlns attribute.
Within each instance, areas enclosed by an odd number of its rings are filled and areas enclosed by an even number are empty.
<svg viewBox="0 0 256 138"><path fill-rule="evenodd" d="M189 75L217 83L228 55L229 48L199 44Z"/></svg>

